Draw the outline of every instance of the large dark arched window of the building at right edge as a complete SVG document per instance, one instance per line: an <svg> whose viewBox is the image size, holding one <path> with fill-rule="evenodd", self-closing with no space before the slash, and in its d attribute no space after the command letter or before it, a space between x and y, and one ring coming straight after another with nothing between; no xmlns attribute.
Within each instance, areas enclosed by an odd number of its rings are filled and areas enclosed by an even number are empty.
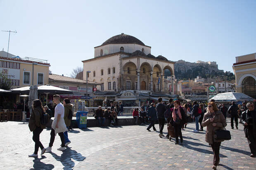
<svg viewBox="0 0 256 170"><path fill-rule="evenodd" d="M254 99L256 98L256 81L253 77L248 76L244 78L242 82L242 93Z"/></svg>

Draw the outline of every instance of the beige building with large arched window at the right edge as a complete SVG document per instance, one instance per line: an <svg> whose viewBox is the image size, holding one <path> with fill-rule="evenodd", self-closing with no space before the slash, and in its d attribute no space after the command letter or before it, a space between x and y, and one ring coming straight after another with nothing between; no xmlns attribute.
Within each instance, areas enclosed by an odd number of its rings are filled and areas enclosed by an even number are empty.
<svg viewBox="0 0 256 170"><path fill-rule="evenodd" d="M236 91L256 99L256 53L236 57L233 70Z"/></svg>

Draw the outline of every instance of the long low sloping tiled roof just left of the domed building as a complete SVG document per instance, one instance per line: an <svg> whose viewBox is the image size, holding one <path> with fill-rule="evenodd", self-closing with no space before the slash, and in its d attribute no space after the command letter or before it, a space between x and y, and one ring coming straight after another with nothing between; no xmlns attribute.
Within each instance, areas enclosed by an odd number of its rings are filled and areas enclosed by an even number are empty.
<svg viewBox="0 0 256 170"><path fill-rule="evenodd" d="M69 83L85 83L86 84L86 80L80 80L80 79L76 79L76 78L60 76L57 74L49 74L49 81L60 81L60 82L69 82ZM88 81L88 84L100 85L100 83L95 83L95 82L91 82L91 81Z"/></svg>

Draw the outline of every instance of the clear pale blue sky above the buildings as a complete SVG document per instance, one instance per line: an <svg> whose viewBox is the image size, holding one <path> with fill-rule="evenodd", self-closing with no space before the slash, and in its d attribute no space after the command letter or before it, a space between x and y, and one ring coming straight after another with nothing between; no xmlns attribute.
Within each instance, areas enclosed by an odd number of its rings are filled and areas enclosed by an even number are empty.
<svg viewBox="0 0 256 170"><path fill-rule="evenodd" d="M0 0L0 30L9 52L49 60L69 76L94 47L125 33L169 60L217 61L232 71L235 57L256 52L256 0ZM8 33L0 32L7 51Z"/></svg>

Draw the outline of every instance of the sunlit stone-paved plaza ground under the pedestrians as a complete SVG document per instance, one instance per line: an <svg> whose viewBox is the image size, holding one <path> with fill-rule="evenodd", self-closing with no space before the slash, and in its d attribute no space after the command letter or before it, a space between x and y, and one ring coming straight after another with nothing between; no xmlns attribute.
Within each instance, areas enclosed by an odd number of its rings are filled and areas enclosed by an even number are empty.
<svg viewBox="0 0 256 170"><path fill-rule="evenodd" d="M183 131L183 145L175 145L157 132L148 132L146 126L90 127L69 132L70 147L57 151L60 145L56 136L52 152L38 158L28 158L33 153L34 142L28 124L21 122L0 123L0 169L82 169L82 170L207 170L211 169L213 154L205 142L205 131L194 133L194 123ZM159 130L159 125L156 125ZM231 130L230 119L227 129L232 139L222 142L220 165L223 170L255 170L256 158L249 156L249 146L243 127ZM167 128L164 128L166 135ZM50 130L43 130L40 141L44 147L50 142ZM40 149L38 151L40 153Z"/></svg>

